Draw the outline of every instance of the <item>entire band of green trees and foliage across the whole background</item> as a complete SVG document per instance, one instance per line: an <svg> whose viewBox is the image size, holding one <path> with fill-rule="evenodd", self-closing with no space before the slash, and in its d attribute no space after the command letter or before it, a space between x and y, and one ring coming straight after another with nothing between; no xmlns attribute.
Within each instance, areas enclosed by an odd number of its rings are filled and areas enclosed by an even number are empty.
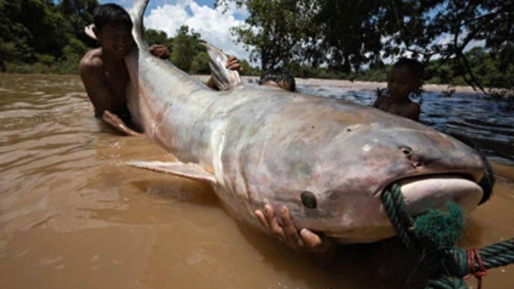
<svg viewBox="0 0 514 289"><path fill-rule="evenodd" d="M425 82L514 87L514 0L217 2L245 4L250 11L245 25L233 28L260 64L243 61L247 75L282 65L296 77L384 81L386 63L410 54L427 64ZM98 5L0 0L0 70L77 73L82 55L98 46L84 33ZM174 38L153 30L145 36L167 45L182 70L209 72L201 35L189 27Z"/></svg>

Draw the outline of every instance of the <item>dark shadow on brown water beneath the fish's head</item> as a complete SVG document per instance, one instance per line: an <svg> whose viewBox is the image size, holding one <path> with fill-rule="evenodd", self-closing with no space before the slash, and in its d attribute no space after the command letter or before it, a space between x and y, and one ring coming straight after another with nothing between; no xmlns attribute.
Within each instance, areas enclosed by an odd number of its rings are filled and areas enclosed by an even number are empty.
<svg viewBox="0 0 514 289"><path fill-rule="evenodd" d="M418 262L397 239L340 245L334 258L327 262L277 245L269 236L245 226L240 225L239 229L269 266L286 272L294 280L303 280L306 288L422 289L428 278L416 269Z"/></svg>

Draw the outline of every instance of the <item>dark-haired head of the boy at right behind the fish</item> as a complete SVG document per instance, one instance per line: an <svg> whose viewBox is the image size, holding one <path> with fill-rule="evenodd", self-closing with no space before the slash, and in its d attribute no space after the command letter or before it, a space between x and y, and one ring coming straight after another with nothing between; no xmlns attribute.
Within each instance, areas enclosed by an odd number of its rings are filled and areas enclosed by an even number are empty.
<svg viewBox="0 0 514 289"><path fill-rule="evenodd" d="M423 85L425 67L421 62L410 58L400 58L393 64L387 77L387 89L395 99L406 99Z"/></svg>

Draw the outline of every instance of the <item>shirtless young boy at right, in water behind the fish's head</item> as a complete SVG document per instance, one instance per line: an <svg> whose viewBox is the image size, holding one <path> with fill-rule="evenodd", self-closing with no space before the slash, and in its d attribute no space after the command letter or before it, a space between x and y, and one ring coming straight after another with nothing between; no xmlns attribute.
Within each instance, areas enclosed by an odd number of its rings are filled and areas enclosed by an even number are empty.
<svg viewBox="0 0 514 289"><path fill-rule="evenodd" d="M379 94L373 107L418 121L420 104L413 102L410 95L420 93L423 74L423 64L417 60L400 58L393 64L387 77L389 95Z"/></svg>

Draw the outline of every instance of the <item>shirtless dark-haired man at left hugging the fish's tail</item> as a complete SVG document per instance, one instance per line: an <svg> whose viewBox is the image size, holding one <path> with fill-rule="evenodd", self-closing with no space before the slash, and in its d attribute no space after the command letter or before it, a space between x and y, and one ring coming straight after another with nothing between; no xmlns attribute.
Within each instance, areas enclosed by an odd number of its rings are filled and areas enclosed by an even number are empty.
<svg viewBox="0 0 514 289"><path fill-rule="evenodd" d="M79 72L95 116L117 131L137 136L127 107L126 88L129 82L125 56L133 48L133 23L123 7L103 4L94 11L94 26L86 34L99 40L101 47L86 52L79 63ZM169 58L165 45L152 45L150 53Z"/></svg>

